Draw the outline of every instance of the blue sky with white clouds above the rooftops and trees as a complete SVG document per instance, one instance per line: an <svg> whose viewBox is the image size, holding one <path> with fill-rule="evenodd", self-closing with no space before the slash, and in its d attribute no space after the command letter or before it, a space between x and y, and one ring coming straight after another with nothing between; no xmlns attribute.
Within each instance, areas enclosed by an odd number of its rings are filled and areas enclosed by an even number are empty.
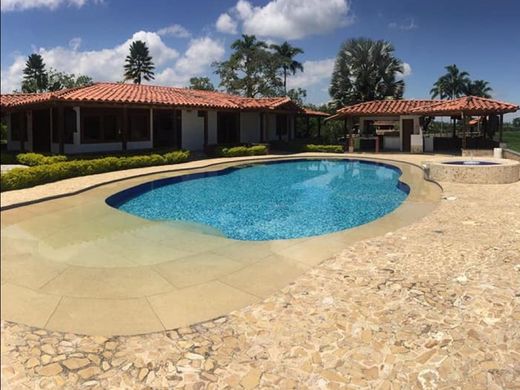
<svg viewBox="0 0 520 390"><path fill-rule="evenodd" d="M428 97L448 64L520 103L518 0L2 0L2 91L19 88L25 58L98 81L122 78L132 39L150 46L156 83L186 85L213 75L242 32L304 49L305 72L289 85L326 102L334 57L353 37L386 39L407 64L405 97Z"/></svg>

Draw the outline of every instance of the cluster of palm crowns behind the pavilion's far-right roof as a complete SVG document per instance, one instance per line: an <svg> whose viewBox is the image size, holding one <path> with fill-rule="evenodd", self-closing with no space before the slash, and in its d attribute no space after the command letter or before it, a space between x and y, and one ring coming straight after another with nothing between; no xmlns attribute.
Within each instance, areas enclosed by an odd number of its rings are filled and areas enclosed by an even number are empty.
<svg viewBox="0 0 520 390"><path fill-rule="evenodd" d="M490 98L492 88L484 80L471 80L469 73L457 65L447 65L446 73L437 79L430 91L432 98L455 99L461 96Z"/></svg>

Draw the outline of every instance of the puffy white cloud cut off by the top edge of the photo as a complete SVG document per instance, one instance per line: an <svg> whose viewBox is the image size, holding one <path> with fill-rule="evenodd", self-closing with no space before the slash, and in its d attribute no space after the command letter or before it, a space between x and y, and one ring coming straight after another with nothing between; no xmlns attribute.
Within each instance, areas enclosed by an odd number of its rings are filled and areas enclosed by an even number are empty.
<svg viewBox="0 0 520 390"><path fill-rule="evenodd" d="M352 21L349 1L271 0L263 7L255 7L247 0L239 0L229 13L220 15L217 28L219 21L224 30L224 25L229 27L240 22L246 34L300 39L349 24Z"/></svg>

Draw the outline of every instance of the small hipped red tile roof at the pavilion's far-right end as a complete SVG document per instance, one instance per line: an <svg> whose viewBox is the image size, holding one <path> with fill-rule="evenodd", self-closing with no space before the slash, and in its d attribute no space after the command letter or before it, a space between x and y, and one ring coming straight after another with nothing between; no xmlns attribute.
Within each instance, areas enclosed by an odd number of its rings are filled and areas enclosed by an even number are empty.
<svg viewBox="0 0 520 390"><path fill-rule="evenodd" d="M505 103L498 100L486 99L477 96L464 96L458 99L443 100L423 107L417 107L412 113L430 115L453 115L465 113L479 115L487 113L515 112L520 107L517 104Z"/></svg>

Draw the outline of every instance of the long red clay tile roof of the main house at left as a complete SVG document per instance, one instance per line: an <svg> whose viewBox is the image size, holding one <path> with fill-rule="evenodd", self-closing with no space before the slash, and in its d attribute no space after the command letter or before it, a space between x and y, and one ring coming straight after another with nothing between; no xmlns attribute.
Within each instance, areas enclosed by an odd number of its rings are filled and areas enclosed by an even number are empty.
<svg viewBox="0 0 520 390"><path fill-rule="evenodd" d="M288 97L244 98L222 92L155 85L96 83L87 87L40 94L2 95L2 107L17 107L47 101L70 103L127 103L235 110L302 109Z"/></svg>

